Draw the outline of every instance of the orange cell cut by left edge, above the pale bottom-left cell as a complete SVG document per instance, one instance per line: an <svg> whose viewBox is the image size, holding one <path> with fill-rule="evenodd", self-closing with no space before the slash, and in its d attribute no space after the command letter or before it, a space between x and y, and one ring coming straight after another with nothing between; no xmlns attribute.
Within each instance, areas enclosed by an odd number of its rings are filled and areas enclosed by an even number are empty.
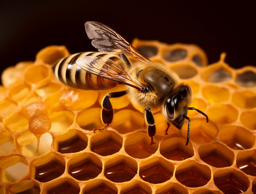
<svg viewBox="0 0 256 194"><path fill-rule="evenodd" d="M13 138L7 132L0 132L0 155L8 154L13 147Z"/></svg>

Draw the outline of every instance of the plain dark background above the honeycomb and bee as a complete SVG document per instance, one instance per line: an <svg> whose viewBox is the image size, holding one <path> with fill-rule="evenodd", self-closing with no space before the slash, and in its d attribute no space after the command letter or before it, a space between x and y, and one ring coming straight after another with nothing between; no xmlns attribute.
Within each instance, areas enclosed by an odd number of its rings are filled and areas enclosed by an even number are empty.
<svg viewBox="0 0 256 194"><path fill-rule="evenodd" d="M71 53L96 50L85 33L88 20L112 27L129 42L193 43L206 51L210 64L225 51L231 67L256 66L255 0L239 2L2 0L0 73L17 62L35 60L49 45L65 45Z"/></svg>

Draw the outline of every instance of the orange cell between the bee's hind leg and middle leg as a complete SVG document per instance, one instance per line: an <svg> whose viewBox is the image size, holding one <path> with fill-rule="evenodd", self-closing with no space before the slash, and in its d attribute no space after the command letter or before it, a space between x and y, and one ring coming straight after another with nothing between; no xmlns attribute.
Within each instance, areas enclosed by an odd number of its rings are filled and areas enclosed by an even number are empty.
<svg viewBox="0 0 256 194"><path fill-rule="evenodd" d="M139 111L125 109L114 113L111 126L120 134L126 134L140 129L144 123L144 116Z"/></svg>

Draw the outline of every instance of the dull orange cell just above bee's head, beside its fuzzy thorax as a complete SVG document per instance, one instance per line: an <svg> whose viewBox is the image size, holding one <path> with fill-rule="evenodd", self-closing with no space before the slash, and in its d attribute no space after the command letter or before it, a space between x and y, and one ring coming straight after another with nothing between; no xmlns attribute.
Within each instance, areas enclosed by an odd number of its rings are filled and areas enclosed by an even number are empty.
<svg viewBox="0 0 256 194"><path fill-rule="evenodd" d="M192 65L179 65L171 69L175 71L181 79L193 78L198 74L197 70Z"/></svg>

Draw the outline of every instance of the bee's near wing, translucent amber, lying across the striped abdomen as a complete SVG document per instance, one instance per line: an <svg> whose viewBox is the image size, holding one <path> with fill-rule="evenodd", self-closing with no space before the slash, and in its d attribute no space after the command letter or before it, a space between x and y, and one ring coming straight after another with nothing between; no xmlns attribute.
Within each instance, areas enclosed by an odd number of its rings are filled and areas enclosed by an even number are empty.
<svg viewBox="0 0 256 194"><path fill-rule="evenodd" d="M91 74L114 80L134 87L139 91L143 91L144 85L124 71L120 65L111 59L85 56L78 58L76 64L81 67L81 69L88 71Z"/></svg>

